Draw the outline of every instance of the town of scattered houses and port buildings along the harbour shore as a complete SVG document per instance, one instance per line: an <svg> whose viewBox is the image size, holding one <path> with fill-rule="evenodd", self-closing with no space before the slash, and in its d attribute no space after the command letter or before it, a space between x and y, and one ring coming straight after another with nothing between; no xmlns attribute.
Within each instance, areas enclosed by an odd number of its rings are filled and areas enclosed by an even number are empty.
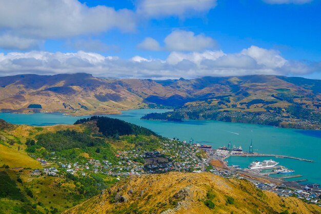
<svg viewBox="0 0 321 214"><path fill-rule="evenodd" d="M66 173L75 176L88 176L90 173L101 173L106 176L122 177L164 173L168 171L204 172L209 171L224 178L246 179L257 188L272 191L281 197L297 197L309 203L321 206L321 189L319 184L299 184L282 179L268 177L260 174L257 170L240 169L239 166L228 166L225 161L231 155L255 155L237 149L229 150L227 147L212 149L204 145L180 142L178 139L163 140L162 148L157 151L142 149L119 150L115 154L114 163L108 160L94 160L83 158L81 161L68 162L59 158L52 152L46 160L35 157L41 162L44 169L35 169L31 172L32 177L40 176L64 176ZM263 155L265 154L256 154ZM267 155L266 155L267 156ZM288 157L293 158L293 157ZM310 161L304 160L303 161Z"/></svg>

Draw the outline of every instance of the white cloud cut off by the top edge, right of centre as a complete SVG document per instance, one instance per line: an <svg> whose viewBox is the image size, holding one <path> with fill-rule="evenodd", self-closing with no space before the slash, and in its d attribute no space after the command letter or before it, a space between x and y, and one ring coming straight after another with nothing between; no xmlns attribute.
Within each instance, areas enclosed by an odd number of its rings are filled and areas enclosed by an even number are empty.
<svg viewBox="0 0 321 214"><path fill-rule="evenodd" d="M137 0L137 13L147 17L203 14L216 6L216 0Z"/></svg>

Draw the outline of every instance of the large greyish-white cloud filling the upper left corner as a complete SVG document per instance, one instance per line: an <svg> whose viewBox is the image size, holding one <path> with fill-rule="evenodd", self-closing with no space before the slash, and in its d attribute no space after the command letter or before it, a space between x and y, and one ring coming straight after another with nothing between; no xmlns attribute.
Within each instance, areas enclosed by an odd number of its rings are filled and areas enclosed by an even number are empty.
<svg viewBox="0 0 321 214"><path fill-rule="evenodd" d="M95 34L112 28L133 31L136 21L131 10L87 7L76 0L0 1L0 32L4 32L0 36L12 37L10 45L0 43L0 47L28 49L48 38Z"/></svg>

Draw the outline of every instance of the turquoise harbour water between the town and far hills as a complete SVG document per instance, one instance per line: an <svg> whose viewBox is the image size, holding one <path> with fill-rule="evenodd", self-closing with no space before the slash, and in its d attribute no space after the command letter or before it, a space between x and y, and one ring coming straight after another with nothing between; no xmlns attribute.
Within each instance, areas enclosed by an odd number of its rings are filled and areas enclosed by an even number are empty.
<svg viewBox="0 0 321 214"><path fill-rule="evenodd" d="M298 158L314 160L314 163L280 158L243 158L231 157L229 164L246 168L252 161L272 159L279 165L293 168L294 174L302 174L308 183L321 183L321 131L305 131L295 129L275 128L271 126L225 123L218 121L185 121L184 123L164 121L139 120L141 116L150 112L164 112L162 109L138 109L124 111L122 115L108 115L130 123L147 127L168 138L178 138L194 143L210 144L213 148L227 145L241 145L246 151L251 140L255 152L268 154L283 154ZM85 116L68 116L62 114L10 114L0 113L0 119L14 124L54 125L73 124L77 119ZM289 174L288 174L289 175ZM288 176L287 175L287 176Z"/></svg>

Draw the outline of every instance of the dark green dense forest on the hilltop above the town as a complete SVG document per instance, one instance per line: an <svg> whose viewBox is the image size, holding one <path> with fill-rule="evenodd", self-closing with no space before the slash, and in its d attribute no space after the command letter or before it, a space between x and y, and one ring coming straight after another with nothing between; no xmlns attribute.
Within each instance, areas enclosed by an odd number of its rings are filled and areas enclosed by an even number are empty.
<svg viewBox="0 0 321 214"><path fill-rule="evenodd" d="M89 121L96 121L99 132L103 133L107 138L129 134L156 135L155 132L142 126L137 126L114 118L108 118L107 116L92 116L91 118L77 120L74 124L82 124Z"/></svg>

